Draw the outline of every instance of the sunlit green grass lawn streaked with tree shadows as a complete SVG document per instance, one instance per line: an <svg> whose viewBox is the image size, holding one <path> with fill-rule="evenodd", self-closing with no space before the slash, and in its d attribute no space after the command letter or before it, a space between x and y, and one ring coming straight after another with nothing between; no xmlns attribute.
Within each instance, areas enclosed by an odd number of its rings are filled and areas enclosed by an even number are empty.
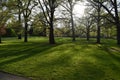
<svg viewBox="0 0 120 80"><path fill-rule="evenodd" d="M32 37L28 43L13 38L0 44L0 71L33 80L120 80L120 47L114 40L103 44L70 38Z"/></svg>

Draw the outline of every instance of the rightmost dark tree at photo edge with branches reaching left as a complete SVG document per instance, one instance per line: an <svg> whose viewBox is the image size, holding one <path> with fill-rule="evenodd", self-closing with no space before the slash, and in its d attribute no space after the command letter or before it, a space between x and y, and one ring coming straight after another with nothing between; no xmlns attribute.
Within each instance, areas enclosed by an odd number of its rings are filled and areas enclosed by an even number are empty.
<svg viewBox="0 0 120 80"><path fill-rule="evenodd" d="M120 45L120 16L119 16L119 3L118 0L94 0L96 3L98 3L100 6L102 6L106 12L111 16L111 18L114 21L113 22L116 25L117 29L117 44Z"/></svg>

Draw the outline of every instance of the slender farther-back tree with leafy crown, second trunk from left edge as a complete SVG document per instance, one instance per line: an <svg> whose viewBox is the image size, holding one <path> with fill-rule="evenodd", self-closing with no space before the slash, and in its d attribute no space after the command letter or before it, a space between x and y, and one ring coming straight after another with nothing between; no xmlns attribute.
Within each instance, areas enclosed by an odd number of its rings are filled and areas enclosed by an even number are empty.
<svg viewBox="0 0 120 80"><path fill-rule="evenodd" d="M10 14L15 17L14 21L17 22L16 29L17 30L17 36L18 39L21 39L21 30L22 30L22 22L21 22L21 15L22 15L22 9L21 9L21 2L20 0L6 0L7 1L7 9L10 11Z"/></svg>

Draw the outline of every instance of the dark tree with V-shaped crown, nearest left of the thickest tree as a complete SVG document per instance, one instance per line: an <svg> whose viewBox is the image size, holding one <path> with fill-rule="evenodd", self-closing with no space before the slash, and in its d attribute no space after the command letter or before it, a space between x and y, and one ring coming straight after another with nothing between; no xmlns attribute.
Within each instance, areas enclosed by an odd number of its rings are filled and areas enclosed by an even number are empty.
<svg viewBox="0 0 120 80"><path fill-rule="evenodd" d="M24 17L24 42L28 42L28 22L33 8L37 5L35 0L18 0L19 7ZM20 19L20 15L19 15Z"/></svg>

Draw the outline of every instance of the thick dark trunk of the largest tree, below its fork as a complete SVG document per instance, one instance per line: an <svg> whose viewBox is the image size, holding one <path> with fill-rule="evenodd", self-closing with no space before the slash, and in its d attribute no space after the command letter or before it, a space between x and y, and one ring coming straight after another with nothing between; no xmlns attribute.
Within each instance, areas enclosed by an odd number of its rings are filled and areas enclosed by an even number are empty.
<svg viewBox="0 0 120 80"><path fill-rule="evenodd" d="M51 18L50 18L50 33L49 33L49 43L50 44L55 44L55 39L54 39L54 28L53 28L53 18L54 18L54 11L51 12Z"/></svg>

